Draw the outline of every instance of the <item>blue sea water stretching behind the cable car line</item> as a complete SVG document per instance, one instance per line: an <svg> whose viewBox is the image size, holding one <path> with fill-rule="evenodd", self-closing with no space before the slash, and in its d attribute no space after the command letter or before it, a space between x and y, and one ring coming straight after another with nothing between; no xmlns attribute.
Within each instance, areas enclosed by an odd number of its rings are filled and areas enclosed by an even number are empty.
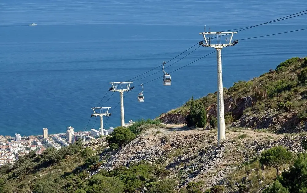
<svg viewBox="0 0 307 193"><path fill-rule="evenodd" d="M63 133L83 130L91 107L111 87L168 61L202 40L199 32L257 25L307 7L305 0L277 1L98 1L11 0L0 2L0 134ZM247 29L235 39L306 28L306 15ZM37 26L28 26L31 23ZM261 75L290 57L307 55L306 31L239 41L223 49L223 83ZM167 68L176 70L213 52L200 47ZM188 51L189 52L189 51ZM187 52L187 53L188 53ZM179 60L181 55L168 64ZM163 75L157 68L132 86ZM144 85L145 102L135 87L124 98L125 120L155 118L216 91L216 53L172 73L172 86L162 79ZM107 92L101 104L112 95ZM114 93L104 106L119 102ZM104 118L106 122L107 118ZM91 118L87 129L93 127ZM120 108L107 127L120 125ZM99 120L95 123L99 128Z"/></svg>

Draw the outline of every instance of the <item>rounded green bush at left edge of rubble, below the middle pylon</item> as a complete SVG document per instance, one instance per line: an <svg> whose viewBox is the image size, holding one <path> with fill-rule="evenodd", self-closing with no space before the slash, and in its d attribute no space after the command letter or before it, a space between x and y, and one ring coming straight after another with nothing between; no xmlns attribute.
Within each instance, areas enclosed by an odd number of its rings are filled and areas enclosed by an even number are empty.
<svg viewBox="0 0 307 193"><path fill-rule="evenodd" d="M134 139L135 135L126 127L116 127L111 133L107 136L106 140L109 144L117 144L119 147L125 146L130 141Z"/></svg>

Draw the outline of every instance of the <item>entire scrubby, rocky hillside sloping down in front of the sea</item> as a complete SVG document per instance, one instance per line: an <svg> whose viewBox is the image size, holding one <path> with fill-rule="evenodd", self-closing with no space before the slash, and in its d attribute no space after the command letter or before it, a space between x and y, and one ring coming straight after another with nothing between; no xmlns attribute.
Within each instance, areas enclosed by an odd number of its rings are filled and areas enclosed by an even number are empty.
<svg viewBox="0 0 307 193"><path fill-rule="evenodd" d="M306 66L292 58L225 89L220 147L215 93L108 136L30 152L0 167L0 193L306 192ZM190 107L202 109L204 128L161 123L185 123Z"/></svg>

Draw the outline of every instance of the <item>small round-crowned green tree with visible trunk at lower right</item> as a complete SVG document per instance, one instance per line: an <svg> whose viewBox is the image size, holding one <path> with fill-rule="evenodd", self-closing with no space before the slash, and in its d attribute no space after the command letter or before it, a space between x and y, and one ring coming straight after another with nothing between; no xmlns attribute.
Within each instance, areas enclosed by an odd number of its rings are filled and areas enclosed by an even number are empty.
<svg viewBox="0 0 307 193"><path fill-rule="evenodd" d="M262 165L270 166L276 169L277 176L279 175L279 167L289 163L292 160L292 153L282 146L272 147L264 150L261 153L259 162Z"/></svg>

